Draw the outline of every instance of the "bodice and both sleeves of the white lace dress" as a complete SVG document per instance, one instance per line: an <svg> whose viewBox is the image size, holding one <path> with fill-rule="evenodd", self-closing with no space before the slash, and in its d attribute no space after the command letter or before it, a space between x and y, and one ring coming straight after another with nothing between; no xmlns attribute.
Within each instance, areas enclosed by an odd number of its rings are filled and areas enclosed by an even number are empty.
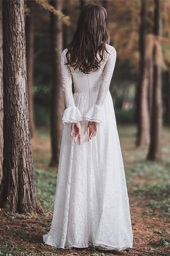
<svg viewBox="0 0 170 256"><path fill-rule="evenodd" d="M89 74L83 73L78 68L71 65L65 65L67 63L66 52L67 48L63 50L61 55L61 73L62 73L62 86L64 92L64 100L66 109L64 110L63 123L69 123L70 121L81 121L88 117L92 121L101 123L101 116L103 115L103 103L106 95L109 91L113 71L116 62L116 50L113 46L106 44L107 52L104 54L104 60L100 62L98 70L92 70ZM96 99L94 106L88 110L84 116L80 113L80 110L75 106L74 97L72 93L72 82L74 85L75 93L92 93L96 92ZM87 97L87 95L82 95ZM90 106L90 105L89 105ZM86 106L84 106L86 108Z"/></svg>

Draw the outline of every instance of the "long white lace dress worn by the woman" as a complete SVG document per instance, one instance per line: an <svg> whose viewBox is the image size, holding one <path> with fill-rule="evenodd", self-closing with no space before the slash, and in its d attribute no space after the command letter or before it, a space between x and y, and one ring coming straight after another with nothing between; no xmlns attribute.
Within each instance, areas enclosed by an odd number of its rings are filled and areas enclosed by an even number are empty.
<svg viewBox="0 0 170 256"><path fill-rule="evenodd" d="M64 65L61 71L66 109L56 182L53 219L44 243L58 248L88 247L101 250L132 248L133 233L124 165L109 85L116 50L106 44L98 71L84 74ZM72 82L74 94L72 93ZM82 124L81 145L70 136L71 123ZM98 122L88 141L87 124Z"/></svg>

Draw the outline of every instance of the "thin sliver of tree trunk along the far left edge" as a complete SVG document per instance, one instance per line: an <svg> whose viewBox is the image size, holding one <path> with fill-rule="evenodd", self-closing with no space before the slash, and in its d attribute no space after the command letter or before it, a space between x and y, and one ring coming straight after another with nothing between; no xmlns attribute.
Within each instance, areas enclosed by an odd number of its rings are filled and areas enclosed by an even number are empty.
<svg viewBox="0 0 170 256"><path fill-rule="evenodd" d="M2 166L3 166L3 147L4 147L4 138L3 138L3 119L4 119L4 110L3 110L3 27L2 27L2 1L0 1L0 184L2 181Z"/></svg>

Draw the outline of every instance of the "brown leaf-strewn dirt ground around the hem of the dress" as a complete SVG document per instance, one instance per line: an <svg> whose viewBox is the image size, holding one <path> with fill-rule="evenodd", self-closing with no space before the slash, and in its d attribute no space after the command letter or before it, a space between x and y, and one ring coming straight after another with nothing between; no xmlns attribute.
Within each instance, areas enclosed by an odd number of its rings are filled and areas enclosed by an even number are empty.
<svg viewBox="0 0 170 256"><path fill-rule="evenodd" d="M170 255L170 247L163 244L156 247L149 242L159 242L160 238L170 239L169 216L163 215L160 210L148 211L148 202L140 196L129 193L130 211L133 229L133 249L122 251L98 251L94 248L55 250L49 245L43 246L42 234L50 228L52 214L27 215L12 214L2 209L1 216L1 246L11 241L8 251L13 255ZM160 234L166 230L166 234ZM22 240L21 240L22 239ZM21 245L21 247L20 247ZM1 250L1 249L0 249ZM21 250L21 254L20 254ZM55 252L54 252L55 250ZM46 252L46 254L44 254ZM24 254L23 254L24 253ZM41 254L42 253L42 254ZM53 254L52 254L53 253ZM103 254L102 254L103 253ZM0 254L3 255L3 254ZM4 254L9 255L9 254Z"/></svg>

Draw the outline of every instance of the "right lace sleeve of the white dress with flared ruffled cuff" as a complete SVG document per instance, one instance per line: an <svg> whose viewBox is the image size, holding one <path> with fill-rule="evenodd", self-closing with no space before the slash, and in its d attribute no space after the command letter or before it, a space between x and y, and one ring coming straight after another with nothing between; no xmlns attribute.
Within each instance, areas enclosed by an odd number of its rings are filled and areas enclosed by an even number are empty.
<svg viewBox="0 0 170 256"><path fill-rule="evenodd" d="M100 82L96 104L87 111L86 115L84 115L84 119L88 121L95 121L99 124L103 123L103 104L109 91L115 63L116 50L114 47L112 47L110 55L107 57L105 67L103 69L103 76Z"/></svg>

